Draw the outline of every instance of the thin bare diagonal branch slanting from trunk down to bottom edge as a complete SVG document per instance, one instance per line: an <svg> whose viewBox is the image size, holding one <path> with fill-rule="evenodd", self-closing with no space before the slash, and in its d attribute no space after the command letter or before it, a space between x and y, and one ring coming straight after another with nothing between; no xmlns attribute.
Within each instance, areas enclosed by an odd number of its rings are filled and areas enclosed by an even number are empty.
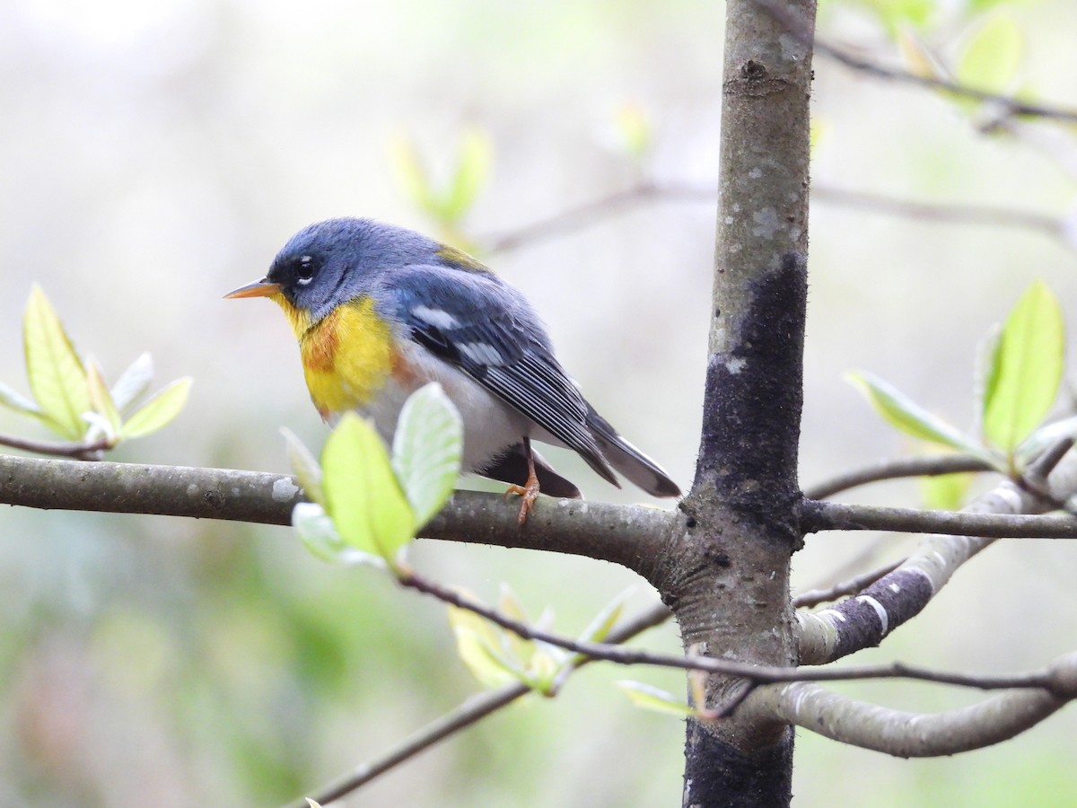
<svg viewBox="0 0 1077 808"><path fill-rule="evenodd" d="M615 626L610 631L606 640L611 643L627 642L648 628L661 625L670 616L672 616L670 611L661 603L657 603L651 609L641 612L632 619ZM583 667L589 661L592 660L589 658L581 659L575 663L574 667ZM491 715L502 707L531 692L531 688L526 684L514 682L470 698L457 709L428 724L409 738L406 738L377 760L364 763L356 767L354 771L317 789L311 798L320 805L328 805L333 800L339 799L365 785L379 775L386 774L415 757L420 752L430 749L435 743L473 726L487 715ZM293 805L294 808L307 808L307 800L304 797L296 800Z"/></svg>

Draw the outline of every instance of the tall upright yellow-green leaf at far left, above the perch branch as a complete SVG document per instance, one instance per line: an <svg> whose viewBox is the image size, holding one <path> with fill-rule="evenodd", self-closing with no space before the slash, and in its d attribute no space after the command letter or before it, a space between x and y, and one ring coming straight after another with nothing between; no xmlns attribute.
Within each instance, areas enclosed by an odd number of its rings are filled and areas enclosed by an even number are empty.
<svg viewBox="0 0 1077 808"><path fill-rule="evenodd" d="M23 320L23 344L30 390L45 422L71 441L86 432L82 417L90 408L86 371L52 305L34 285Z"/></svg>

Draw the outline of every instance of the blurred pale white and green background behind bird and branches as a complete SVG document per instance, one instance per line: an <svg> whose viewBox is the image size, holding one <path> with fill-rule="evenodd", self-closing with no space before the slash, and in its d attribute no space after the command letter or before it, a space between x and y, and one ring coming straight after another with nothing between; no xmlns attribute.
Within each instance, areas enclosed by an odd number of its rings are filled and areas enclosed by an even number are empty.
<svg viewBox="0 0 1077 808"><path fill-rule="evenodd" d="M1020 31L1013 88L1077 107L1077 6L830 2L821 33L899 64L921 42L960 59L992 6ZM936 8L940 6L940 8ZM918 11L919 9L919 11ZM284 471L279 428L317 448L297 351L264 302L221 295L260 277L300 226L361 214L437 232L402 181L401 144L435 183L466 133L491 150L459 233L495 237L632 187L694 191L489 255L544 315L597 408L687 485L700 420L717 175L721 3L633 0L11 0L0 5L0 379L26 391L20 318L42 284L79 348L115 377L150 351L164 384L195 379L166 431L115 459ZM918 17L919 15L919 17ZM913 20L915 22L915 20ZM890 27L889 27L890 26ZM904 39L903 39L904 38ZM910 51L911 47L911 51ZM978 344L1034 278L1077 317L1072 240L997 224L884 215L824 190L1074 210L1073 129L988 135L985 111L815 61L811 299L802 483L918 450L842 380L872 371L961 426ZM642 153L626 145L644 122ZM626 123L628 122L628 123ZM631 140L630 137L628 137ZM395 151L394 151L395 144ZM578 222L583 224L583 222ZM0 412L0 431L44 437ZM634 501L550 451L593 499ZM917 504L912 484L853 499ZM810 537L798 586L912 546ZM416 566L494 599L512 587L582 629L631 588L581 558L420 542ZM885 649L966 671L1072 650L1077 548L1001 542ZM0 804L274 805L376 756L478 689L444 610L370 570L326 566L290 530L164 517L0 512ZM672 627L655 647L675 651ZM630 707L591 666L383 777L353 805L659 806L681 792L683 726ZM912 710L975 694L844 687ZM1068 805L1068 710L994 749L898 761L802 734L798 805Z"/></svg>

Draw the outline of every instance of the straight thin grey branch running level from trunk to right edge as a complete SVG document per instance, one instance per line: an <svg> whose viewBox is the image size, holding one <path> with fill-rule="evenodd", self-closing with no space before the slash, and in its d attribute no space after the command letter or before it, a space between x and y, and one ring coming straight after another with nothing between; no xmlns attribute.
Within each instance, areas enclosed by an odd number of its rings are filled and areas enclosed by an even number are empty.
<svg viewBox="0 0 1077 808"><path fill-rule="evenodd" d="M1077 518L1069 514L983 514L805 500L800 515L801 526L809 533L822 530L886 530L985 539L1077 539Z"/></svg>

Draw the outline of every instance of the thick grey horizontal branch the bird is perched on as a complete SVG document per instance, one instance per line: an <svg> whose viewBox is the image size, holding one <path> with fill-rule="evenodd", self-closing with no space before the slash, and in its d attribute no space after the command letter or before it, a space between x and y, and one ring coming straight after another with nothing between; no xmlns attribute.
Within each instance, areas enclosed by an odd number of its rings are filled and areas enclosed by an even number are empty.
<svg viewBox="0 0 1077 808"><path fill-rule="evenodd" d="M158 514L289 525L304 499L288 474L0 455L0 504L68 511ZM495 493L457 491L423 528L428 539L585 555L648 568L673 512L541 497L527 524L519 504Z"/></svg>

